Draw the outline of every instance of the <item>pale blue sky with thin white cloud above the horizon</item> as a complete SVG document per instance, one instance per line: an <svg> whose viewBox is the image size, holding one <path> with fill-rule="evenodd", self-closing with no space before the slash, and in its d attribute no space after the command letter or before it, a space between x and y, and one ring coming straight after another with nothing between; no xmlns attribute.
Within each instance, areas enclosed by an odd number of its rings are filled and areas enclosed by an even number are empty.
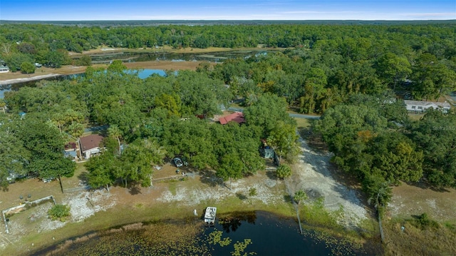
<svg viewBox="0 0 456 256"><path fill-rule="evenodd" d="M0 19L442 20L456 0L0 0Z"/></svg>

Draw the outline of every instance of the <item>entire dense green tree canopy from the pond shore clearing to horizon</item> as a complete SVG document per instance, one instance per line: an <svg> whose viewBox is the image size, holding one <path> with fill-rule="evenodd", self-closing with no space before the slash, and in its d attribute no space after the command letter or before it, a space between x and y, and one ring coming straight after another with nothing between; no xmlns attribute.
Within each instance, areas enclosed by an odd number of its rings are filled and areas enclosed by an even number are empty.
<svg viewBox="0 0 456 256"><path fill-rule="evenodd" d="M62 173L55 173L40 161L55 160L62 140L77 139L86 122L110 127L107 150L87 165L94 187L119 179L125 185L147 185L150 163L174 155L195 168L214 169L224 180L242 178L264 168L258 153L263 138L293 160L296 123L286 113L291 108L322 114L314 130L334 153L333 163L356 175L377 205L388 202L390 186L399 180L456 187L455 112L428 111L420 121L410 121L401 100L405 92L418 100L436 100L456 90L455 29L454 24L4 24L0 43L7 63L24 58L52 65L51 56L67 57L68 51L100 45L264 44L287 49L144 80L124 73L125 66L114 61L108 71L89 67L77 81L43 81L36 88L6 93L9 111L27 115L21 120L14 114L0 126L2 141L10 143L1 144L0 179L6 185L8 170L41 177L71 175L57 164ZM234 99L243 100L245 125L219 126L195 118L212 117ZM33 126L37 128L26 128ZM120 140L128 145L121 154ZM14 152L7 150L12 145Z"/></svg>

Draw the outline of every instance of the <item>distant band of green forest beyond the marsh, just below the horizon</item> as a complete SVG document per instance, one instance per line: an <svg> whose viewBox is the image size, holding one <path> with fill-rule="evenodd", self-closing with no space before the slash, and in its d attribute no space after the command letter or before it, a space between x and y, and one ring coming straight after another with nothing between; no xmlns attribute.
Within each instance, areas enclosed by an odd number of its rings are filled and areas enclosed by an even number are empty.
<svg viewBox="0 0 456 256"><path fill-rule="evenodd" d="M122 48L175 48L210 46L225 48L308 48L337 51L343 58L377 58L389 51L411 58L427 52L437 59L455 55L456 24L348 25L270 24L212 26L55 26L2 24L0 58L13 71L24 61L60 66L71 63L68 52L81 53L100 46ZM334 60L337 61L337 60Z"/></svg>

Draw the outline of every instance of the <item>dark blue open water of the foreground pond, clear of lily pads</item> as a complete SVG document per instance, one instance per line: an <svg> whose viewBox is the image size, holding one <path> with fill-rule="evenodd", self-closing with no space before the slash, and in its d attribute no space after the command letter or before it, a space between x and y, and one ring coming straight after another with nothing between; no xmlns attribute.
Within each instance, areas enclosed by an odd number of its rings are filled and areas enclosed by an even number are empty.
<svg viewBox="0 0 456 256"><path fill-rule="evenodd" d="M204 230L208 235L214 230L223 231L222 239L229 237L232 244L250 239L244 252L255 252L257 255L366 255L333 237L323 239L311 230L299 231L299 224L292 219L278 217L266 212L255 212L237 215L229 220L216 223L215 227ZM214 255L230 255L232 246L212 246Z"/></svg>

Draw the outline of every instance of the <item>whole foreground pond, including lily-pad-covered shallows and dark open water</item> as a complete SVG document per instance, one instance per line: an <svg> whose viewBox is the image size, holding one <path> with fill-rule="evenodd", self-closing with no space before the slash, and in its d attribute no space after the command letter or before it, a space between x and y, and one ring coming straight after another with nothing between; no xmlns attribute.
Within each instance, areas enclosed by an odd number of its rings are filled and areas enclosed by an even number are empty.
<svg viewBox="0 0 456 256"><path fill-rule="evenodd" d="M197 220L195 228L200 228ZM183 223L182 223L183 224ZM157 225L157 224L151 224ZM188 220L187 220L188 225ZM192 225L192 224L190 224ZM161 228L161 227L160 227ZM167 226L167 229L170 229ZM162 232L164 230L161 230ZM178 233L180 225L165 232ZM217 234L218 236L214 234ZM73 243L65 250L55 251L56 246L33 255L51 252L51 255L233 255L235 245L248 240L240 255L378 255L364 248L356 249L347 242L333 237L318 235L313 231L299 232L296 221L266 212L238 213L222 217L214 227L204 227L196 236L175 235L172 242L157 244L156 232L133 230L92 236L85 242ZM218 239L214 239L218 237ZM217 241L225 241L224 245ZM190 242L188 242L190 241ZM228 241L228 242L227 242ZM52 253L53 252L53 253Z"/></svg>

